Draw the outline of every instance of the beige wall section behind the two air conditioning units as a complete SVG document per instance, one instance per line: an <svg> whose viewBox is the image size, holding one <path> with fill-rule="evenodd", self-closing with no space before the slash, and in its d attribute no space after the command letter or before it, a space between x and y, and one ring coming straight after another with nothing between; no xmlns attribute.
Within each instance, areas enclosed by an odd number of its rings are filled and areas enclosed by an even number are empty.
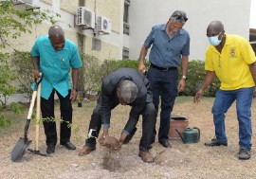
<svg viewBox="0 0 256 179"><path fill-rule="evenodd" d="M46 3L47 5L52 6L52 0L40 0L41 2ZM53 5L54 6L54 5ZM73 15L76 14L77 8L79 6L79 0L60 0L60 7L66 12L69 12ZM85 7L88 9L92 9L96 12L96 16L105 16L112 20L112 31L115 31L116 34L120 32L120 7L121 7L121 0L85 0ZM60 18L60 21L64 21L64 17ZM33 27L31 29L32 33L23 34L21 37L17 38L16 40L10 39L9 42L11 46L9 46L5 51L12 51L13 49L20 50L20 51L30 51L32 45L36 38L40 35L46 35L48 28L51 25L43 24ZM72 29L64 29L65 38L69 39L70 41L74 42L78 45L78 35L77 35L77 27ZM84 32L85 30L83 30ZM82 32L82 33L83 33ZM91 32L90 30L86 30L86 32ZM114 33L114 32L113 32ZM111 35L106 36L98 36L97 38L101 41L101 50L92 50L92 34L84 33L84 53L94 55L101 60L110 60L116 59L119 60L120 58L120 48L122 46L117 45L116 43L112 43ZM117 35L116 35L117 36ZM106 41L105 39L110 39L110 41Z"/></svg>

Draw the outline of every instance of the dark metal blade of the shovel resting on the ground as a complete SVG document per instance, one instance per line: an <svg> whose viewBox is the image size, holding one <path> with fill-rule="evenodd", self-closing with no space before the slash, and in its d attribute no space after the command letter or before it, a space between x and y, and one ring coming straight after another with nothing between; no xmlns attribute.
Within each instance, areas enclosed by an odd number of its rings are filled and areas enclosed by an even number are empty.
<svg viewBox="0 0 256 179"><path fill-rule="evenodd" d="M16 162L20 160L24 153L26 152L27 148L31 144L32 140L27 140L25 138L20 137L16 145L11 151L10 159L12 162Z"/></svg>

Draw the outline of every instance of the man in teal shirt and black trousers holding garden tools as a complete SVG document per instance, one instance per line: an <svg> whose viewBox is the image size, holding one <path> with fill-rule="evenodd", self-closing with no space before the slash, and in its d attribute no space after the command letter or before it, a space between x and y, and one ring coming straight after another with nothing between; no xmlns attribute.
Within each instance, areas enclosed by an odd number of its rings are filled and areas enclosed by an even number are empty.
<svg viewBox="0 0 256 179"><path fill-rule="evenodd" d="M50 27L48 36L39 37L31 50L34 66L33 78L43 73L41 92L41 111L43 118L54 118L54 95L61 103L60 144L68 150L76 150L70 142L72 123L72 104L77 97L79 68L82 61L77 45L64 38L64 30L60 26ZM72 88L70 84L70 68L72 69ZM55 121L43 121L46 134L46 152L55 152L57 132Z"/></svg>

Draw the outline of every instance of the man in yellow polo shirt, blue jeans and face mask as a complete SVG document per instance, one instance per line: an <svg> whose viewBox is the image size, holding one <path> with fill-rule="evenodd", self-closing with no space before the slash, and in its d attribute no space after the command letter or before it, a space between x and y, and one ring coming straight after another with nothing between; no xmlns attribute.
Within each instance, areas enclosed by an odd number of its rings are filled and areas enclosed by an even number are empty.
<svg viewBox="0 0 256 179"><path fill-rule="evenodd" d="M220 21L213 21L207 28L210 46L206 50L206 79L194 97L200 102L204 90L213 79L221 81L220 89L212 106L215 136L206 146L228 146L225 132L225 114L236 100L237 118L239 121L238 158L247 160L251 150L250 108L256 83L255 53L247 40L238 35L225 34Z"/></svg>

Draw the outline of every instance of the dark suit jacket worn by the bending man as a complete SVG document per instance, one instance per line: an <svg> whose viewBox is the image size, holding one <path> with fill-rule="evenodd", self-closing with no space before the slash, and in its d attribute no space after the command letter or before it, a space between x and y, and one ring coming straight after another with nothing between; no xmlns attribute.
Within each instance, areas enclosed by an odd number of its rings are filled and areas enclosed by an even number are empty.
<svg viewBox="0 0 256 179"><path fill-rule="evenodd" d="M102 81L101 85L101 120L104 128L109 128L111 110L119 104L117 88L123 80L133 81L137 85L137 98L129 104L132 106L129 119L124 132L131 133L136 127L137 120L145 103L153 101L153 94L147 78L140 71L134 68L119 68L112 72Z"/></svg>

